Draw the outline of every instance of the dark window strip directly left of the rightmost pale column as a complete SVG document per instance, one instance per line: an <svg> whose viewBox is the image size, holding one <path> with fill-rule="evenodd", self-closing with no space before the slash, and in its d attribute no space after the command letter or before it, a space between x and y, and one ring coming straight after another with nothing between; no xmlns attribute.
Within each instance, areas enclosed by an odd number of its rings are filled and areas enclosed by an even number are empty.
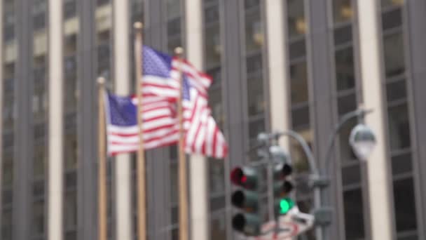
<svg viewBox="0 0 426 240"><path fill-rule="evenodd" d="M355 1L333 0L334 78L338 119L357 109L357 79L355 77ZM364 202L359 161L348 139L357 120L347 122L338 134L338 154L341 161L345 239L362 239Z"/></svg>

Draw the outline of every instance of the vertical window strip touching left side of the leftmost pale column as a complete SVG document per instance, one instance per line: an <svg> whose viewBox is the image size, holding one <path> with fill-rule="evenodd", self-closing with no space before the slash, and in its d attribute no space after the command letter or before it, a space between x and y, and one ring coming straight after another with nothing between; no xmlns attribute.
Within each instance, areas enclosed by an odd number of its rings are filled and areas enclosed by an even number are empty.
<svg viewBox="0 0 426 240"><path fill-rule="evenodd" d="M32 6L34 121L32 239L46 239L46 191L48 169L48 1L36 0Z"/></svg>

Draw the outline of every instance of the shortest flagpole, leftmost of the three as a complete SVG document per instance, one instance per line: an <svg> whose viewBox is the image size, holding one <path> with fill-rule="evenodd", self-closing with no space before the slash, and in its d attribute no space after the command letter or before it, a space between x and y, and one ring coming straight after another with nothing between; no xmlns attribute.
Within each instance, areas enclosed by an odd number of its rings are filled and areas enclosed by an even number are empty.
<svg viewBox="0 0 426 240"><path fill-rule="evenodd" d="M99 185L99 240L107 240L107 157L106 157L106 147L105 147L105 111L104 111L104 84L105 79L99 77L97 79L98 83L98 98L99 98L99 140L98 140L98 157L99 157L99 175L98 175L98 185Z"/></svg>

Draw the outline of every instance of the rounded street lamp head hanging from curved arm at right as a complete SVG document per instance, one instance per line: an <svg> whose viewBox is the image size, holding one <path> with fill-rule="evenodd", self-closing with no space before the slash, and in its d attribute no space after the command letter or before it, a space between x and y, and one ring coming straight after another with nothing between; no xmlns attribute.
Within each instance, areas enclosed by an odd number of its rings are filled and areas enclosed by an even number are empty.
<svg viewBox="0 0 426 240"><path fill-rule="evenodd" d="M349 143L358 159L366 161L376 146L376 137L369 126L358 124L350 132Z"/></svg>

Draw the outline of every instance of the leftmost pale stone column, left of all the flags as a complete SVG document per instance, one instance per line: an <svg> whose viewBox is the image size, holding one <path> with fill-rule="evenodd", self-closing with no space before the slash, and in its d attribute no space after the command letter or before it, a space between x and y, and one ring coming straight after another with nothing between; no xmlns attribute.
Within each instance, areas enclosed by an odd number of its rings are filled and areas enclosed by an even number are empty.
<svg viewBox="0 0 426 240"><path fill-rule="evenodd" d="M63 29L62 0L49 0L49 146L48 146L48 239L63 239Z"/></svg>

